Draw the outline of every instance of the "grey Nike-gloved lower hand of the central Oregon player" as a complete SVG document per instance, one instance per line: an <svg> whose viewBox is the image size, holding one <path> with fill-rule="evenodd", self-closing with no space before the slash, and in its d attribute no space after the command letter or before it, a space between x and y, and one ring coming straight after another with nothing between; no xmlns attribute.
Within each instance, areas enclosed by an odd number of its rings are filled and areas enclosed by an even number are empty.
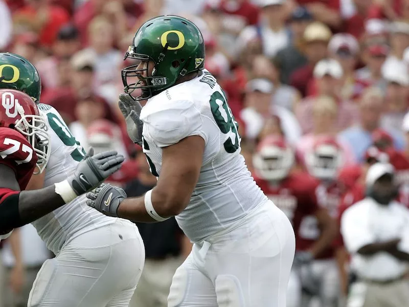
<svg viewBox="0 0 409 307"><path fill-rule="evenodd" d="M105 215L118 216L119 204L126 199L126 196L123 189L103 183L94 191L86 193L88 198L86 204Z"/></svg>

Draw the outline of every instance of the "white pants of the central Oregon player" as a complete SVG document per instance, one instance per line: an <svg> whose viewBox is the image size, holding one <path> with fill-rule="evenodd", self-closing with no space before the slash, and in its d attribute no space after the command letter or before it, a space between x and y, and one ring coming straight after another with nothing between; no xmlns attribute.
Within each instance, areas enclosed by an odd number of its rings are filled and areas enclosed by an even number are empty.
<svg viewBox="0 0 409 307"><path fill-rule="evenodd" d="M285 307L294 232L272 202L194 244L173 276L168 307Z"/></svg>

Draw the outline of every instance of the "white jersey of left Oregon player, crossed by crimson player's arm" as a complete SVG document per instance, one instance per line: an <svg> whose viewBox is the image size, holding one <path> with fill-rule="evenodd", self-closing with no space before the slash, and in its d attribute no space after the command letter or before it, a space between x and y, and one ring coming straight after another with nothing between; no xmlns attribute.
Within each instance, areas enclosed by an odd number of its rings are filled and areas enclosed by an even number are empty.
<svg viewBox="0 0 409 307"><path fill-rule="evenodd" d="M67 128L56 109L38 104L40 114L46 118L51 137L51 157L46 167L44 187L63 181L74 173L85 151ZM47 248L58 254L64 243L89 230L111 224L115 218L86 205L85 195L33 222Z"/></svg>

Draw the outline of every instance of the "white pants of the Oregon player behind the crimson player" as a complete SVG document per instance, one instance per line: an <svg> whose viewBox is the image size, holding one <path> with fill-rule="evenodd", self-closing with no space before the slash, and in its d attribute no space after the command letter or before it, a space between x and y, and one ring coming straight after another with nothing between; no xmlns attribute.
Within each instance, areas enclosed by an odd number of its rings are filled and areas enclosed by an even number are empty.
<svg viewBox="0 0 409 307"><path fill-rule="evenodd" d="M145 261L138 228L129 221L79 235L46 260L28 307L127 307Z"/></svg>

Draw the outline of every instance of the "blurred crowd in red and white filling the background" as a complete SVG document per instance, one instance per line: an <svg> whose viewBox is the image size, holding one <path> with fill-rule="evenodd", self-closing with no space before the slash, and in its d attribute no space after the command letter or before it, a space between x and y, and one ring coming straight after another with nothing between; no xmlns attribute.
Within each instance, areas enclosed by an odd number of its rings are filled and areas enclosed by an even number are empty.
<svg viewBox="0 0 409 307"><path fill-rule="evenodd" d="M297 229L296 235L312 243L298 245L298 252L310 250L330 231L329 224L338 225L339 234L342 212L364 198L366 172L376 161L395 167L399 201L409 206L408 0L0 0L0 50L34 63L42 81L40 102L57 109L85 150L113 148L126 156L124 167L109 180L137 196L149 190L155 178L124 129L117 106L123 92L121 69L130 64L123 56L135 31L162 14L189 18L201 30L205 68L228 97L239 124L241 153L260 187L263 180L283 180L297 171L318 182L318 188L311 185L316 194L311 199L325 214L315 214L316 225L308 222L313 210L304 210L298 226L306 230ZM268 146L282 151L273 156L284 164L267 161L269 153L263 152ZM324 162L313 159L319 156ZM281 168L280 174L268 172ZM263 189L286 212L306 206L284 200L288 188ZM171 252L155 246L150 254L147 247L151 273L139 288L161 283L157 287L165 289L165 298L172 270L189 249L172 223L166 233L174 233L177 242L169 247ZM32 283L36 270L51 256L30 227L22 228L17 242L11 238L3 248L6 273L0 276L7 290L0 292L0 306L7 293L27 293L31 285L22 276ZM147 244L145 238L151 242L156 230L141 227ZM304 278L301 288L313 297L332 296L327 301L335 297L342 305L352 270L342 237L332 238L331 246L313 255L330 265L312 267L316 276L312 281ZM16 250L21 259L13 257ZM167 269L170 277L149 280L157 275L156 261L169 255L174 261ZM25 269L16 268L18 261ZM320 283L324 290L306 282ZM143 298L140 292L139 302L146 302L139 305L164 304L163 297ZM25 295L14 296L17 299L3 299L6 307L25 305ZM335 306L324 301L322 307Z"/></svg>

